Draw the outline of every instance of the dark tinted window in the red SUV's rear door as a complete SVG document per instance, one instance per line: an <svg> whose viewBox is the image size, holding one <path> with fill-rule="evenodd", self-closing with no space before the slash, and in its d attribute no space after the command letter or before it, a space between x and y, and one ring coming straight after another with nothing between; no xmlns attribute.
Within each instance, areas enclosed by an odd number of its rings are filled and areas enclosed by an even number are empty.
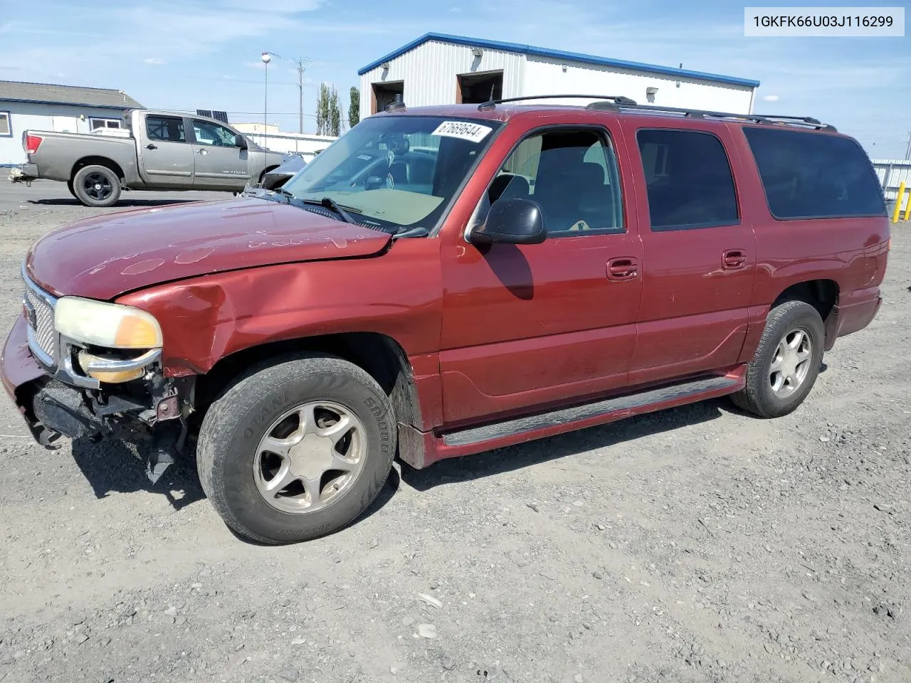
<svg viewBox="0 0 911 683"><path fill-rule="evenodd" d="M740 222L731 164L721 140L711 133L665 129L642 129L636 139L652 230Z"/></svg>

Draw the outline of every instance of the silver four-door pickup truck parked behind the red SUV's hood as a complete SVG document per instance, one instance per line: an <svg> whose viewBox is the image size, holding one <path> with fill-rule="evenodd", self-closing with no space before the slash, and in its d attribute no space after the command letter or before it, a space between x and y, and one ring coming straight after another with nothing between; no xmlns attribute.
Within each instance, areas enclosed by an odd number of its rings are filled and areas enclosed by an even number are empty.
<svg viewBox="0 0 911 683"><path fill-rule="evenodd" d="M125 123L100 135L26 130L22 179L66 182L86 206L109 207L121 189L241 192L283 158L214 118L133 109Z"/></svg>

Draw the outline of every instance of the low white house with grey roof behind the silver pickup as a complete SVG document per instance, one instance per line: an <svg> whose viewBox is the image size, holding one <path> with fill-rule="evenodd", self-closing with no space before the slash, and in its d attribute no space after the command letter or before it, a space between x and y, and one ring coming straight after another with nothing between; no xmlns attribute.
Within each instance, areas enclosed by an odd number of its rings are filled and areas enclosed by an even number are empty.
<svg viewBox="0 0 911 683"><path fill-rule="evenodd" d="M0 81L0 166L25 163L25 130L90 133L119 128L127 109L141 108L122 90Z"/></svg>

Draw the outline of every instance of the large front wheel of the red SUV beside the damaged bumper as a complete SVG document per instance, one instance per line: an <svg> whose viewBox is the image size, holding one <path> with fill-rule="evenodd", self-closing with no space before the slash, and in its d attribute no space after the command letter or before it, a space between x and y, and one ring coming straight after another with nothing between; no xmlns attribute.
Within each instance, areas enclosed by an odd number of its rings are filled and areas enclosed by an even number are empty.
<svg viewBox="0 0 911 683"><path fill-rule="evenodd" d="M277 545L351 524L383 488L395 444L389 399L369 374L306 356L252 372L210 406L197 466L230 528Z"/></svg>

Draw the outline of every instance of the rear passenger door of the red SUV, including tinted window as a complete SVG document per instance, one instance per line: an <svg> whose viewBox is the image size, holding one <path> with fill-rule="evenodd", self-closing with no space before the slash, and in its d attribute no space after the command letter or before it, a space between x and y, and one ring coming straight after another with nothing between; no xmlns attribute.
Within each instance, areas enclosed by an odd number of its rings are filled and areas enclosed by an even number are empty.
<svg viewBox="0 0 911 683"><path fill-rule="evenodd" d="M756 239L738 200L730 131L624 125L642 164L635 175L645 272L630 383L734 365L747 330Z"/></svg>

